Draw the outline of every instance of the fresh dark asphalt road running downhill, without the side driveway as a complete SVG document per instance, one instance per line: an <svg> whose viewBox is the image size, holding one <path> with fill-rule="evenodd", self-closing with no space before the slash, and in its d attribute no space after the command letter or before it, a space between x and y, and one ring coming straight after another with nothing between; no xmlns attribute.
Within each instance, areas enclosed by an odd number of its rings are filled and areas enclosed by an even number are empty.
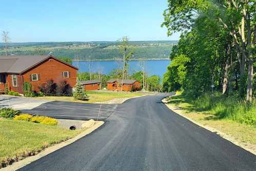
<svg viewBox="0 0 256 171"><path fill-rule="evenodd" d="M256 156L169 110L165 96L117 105L93 133L19 170L256 170Z"/></svg>

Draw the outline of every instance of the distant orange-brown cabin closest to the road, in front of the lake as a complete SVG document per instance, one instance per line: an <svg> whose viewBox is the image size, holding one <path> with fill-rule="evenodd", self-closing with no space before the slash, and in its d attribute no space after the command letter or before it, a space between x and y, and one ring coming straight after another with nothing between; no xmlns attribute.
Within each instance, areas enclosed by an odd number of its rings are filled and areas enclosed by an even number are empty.
<svg viewBox="0 0 256 171"><path fill-rule="evenodd" d="M121 91L121 83L122 83L122 79L110 79L110 80L108 80L108 82L107 82L108 90ZM135 79L124 79L123 91L131 91L132 87L134 88L134 90L140 90L141 89L141 82L139 82Z"/></svg>

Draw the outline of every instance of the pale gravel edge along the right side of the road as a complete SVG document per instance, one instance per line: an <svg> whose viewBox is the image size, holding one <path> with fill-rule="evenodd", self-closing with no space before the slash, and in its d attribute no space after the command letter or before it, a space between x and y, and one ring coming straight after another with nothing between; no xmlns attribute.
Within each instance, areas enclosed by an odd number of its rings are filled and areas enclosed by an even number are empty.
<svg viewBox="0 0 256 171"><path fill-rule="evenodd" d="M246 143L246 142L242 142L240 141L239 139L235 139L233 136L231 135L227 135L219 130L216 130L214 129L213 127L210 127L208 125L203 125L197 121L194 121L193 119L185 116L183 113L182 113L182 110L181 108L177 107L177 106L174 106L174 105L171 105L171 104L168 104L167 103L167 99L163 99L162 102L170 109L172 110L173 112L175 112L176 114L179 114L181 115L182 117L188 119L189 121L203 127L204 129L212 132L212 133L216 133L218 134L219 136L221 136L222 138L232 142L233 144L237 145L237 146L240 146L241 148L244 148L246 151L256 155L256 144L252 144L252 143Z"/></svg>

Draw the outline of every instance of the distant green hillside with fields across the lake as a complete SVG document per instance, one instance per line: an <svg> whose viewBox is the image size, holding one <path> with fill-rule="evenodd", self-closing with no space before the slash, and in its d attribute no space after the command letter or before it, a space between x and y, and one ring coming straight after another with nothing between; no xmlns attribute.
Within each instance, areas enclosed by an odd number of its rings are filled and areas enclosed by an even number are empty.
<svg viewBox="0 0 256 171"><path fill-rule="evenodd" d="M168 59L175 40L130 41L136 47L131 59ZM87 60L113 60L121 57L115 41L72 41L72 42L12 42L8 46L8 55L30 55L35 48L41 47L46 54L55 57L70 57ZM5 55L4 43L0 43L0 55Z"/></svg>

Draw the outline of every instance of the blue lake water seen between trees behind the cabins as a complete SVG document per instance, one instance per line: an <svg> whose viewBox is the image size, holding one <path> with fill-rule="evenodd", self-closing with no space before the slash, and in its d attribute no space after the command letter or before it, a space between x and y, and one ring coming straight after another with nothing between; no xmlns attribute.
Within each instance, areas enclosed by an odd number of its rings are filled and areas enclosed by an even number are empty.
<svg viewBox="0 0 256 171"><path fill-rule="evenodd" d="M138 60L129 61L129 74L141 71L138 66ZM159 75L163 78L163 74L167 72L167 66L170 64L170 60L147 60L146 72L148 75ZM73 61L73 65L77 67L76 62ZM81 72L89 72L89 66L87 61L79 61ZM103 74L108 74L112 69L118 69L115 61L93 61L92 73L97 72L99 66L103 69Z"/></svg>

